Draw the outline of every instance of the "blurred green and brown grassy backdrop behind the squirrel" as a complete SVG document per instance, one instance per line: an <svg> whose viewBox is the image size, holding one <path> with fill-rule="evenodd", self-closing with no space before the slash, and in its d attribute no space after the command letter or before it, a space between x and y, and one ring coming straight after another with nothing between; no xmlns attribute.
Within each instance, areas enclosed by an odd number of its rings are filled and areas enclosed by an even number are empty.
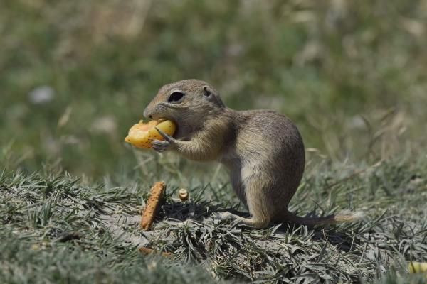
<svg viewBox="0 0 427 284"><path fill-rule="evenodd" d="M427 1L0 6L1 168L137 170L158 157L125 146L127 129L162 84L186 78L233 109L287 114L309 160L425 155Z"/></svg>

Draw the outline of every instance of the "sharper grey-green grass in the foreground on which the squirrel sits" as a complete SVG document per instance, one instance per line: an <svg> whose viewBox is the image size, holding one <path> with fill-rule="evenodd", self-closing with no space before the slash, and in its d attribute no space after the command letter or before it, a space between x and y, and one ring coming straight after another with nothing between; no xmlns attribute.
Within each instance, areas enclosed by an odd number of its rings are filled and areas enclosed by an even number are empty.
<svg viewBox="0 0 427 284"><path fill-rule="evenodd" d="M179 202L179 180L168 177L149 232L139 231L138 222L154 177L88 186L70 175L3 173L1 282L372 283L395 273L383 282L416 283L423 278L406 271L408 261L427 261L426 173L424 158L373 167L319 163L290 208L300 215L359 209L366 218L263 230L214 218L242 209L228 184L191 187L189 202ZM172 257L139 255L140 245Z"/></svg>

